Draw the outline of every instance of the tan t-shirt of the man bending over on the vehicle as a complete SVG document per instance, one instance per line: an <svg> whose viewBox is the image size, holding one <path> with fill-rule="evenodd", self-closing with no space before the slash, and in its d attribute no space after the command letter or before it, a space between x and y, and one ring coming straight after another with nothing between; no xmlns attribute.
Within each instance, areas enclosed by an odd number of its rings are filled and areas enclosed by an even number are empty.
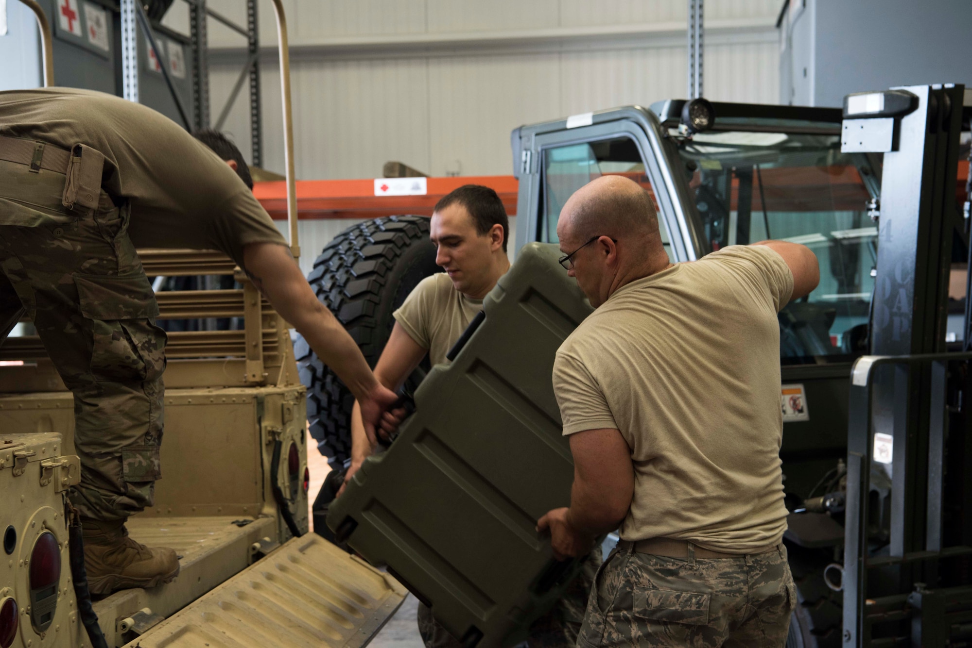
<svg viewBox="0 0 972 648"><path fill-rule="evenodd" d="M105 156L102 188L131 205L137 247L219 249L243 266L247 243L286 243L226 162L161 113L102 92L0 92L0 135Z"/></svg>

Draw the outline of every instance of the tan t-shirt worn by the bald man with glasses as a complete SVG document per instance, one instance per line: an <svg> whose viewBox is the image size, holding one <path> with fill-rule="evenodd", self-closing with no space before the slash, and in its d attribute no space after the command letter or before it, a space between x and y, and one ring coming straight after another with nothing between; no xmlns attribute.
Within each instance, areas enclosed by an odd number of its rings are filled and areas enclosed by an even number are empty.
<svg viewBox="0 0 972 648"><path fill-rule="evenodd" d="M780 325L793 275L765 245L733 245L622 287L564 341L564 434L616 429L635 494L621 537L728 553L786 529Z"/></svg>

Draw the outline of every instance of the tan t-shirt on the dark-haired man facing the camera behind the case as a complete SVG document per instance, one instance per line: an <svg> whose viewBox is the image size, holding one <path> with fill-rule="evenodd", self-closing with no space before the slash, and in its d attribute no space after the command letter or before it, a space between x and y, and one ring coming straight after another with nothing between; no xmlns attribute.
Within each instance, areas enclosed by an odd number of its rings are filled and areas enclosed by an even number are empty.
<svg viewBox="0 0 972 648"><path fill-rule="evenodd" d="M422 279L392 314L412 340L429 349L429 361L439 365L448 363L445 354L482 309L481 299L470 299L456 290L449 275L436 273Z"/></svg>

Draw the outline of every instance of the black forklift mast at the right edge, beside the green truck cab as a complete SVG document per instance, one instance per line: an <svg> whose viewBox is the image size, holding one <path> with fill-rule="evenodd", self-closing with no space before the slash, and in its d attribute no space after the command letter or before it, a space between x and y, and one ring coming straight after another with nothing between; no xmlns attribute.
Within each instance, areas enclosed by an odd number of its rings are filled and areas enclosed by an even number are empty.
<svg viewBox="0 0 972 648"><path fill-rule="evenodd" d="M851 373L846 645L972 637L962 406L972 354L945 343L954 250L968 243L955 204L963 90L919 85L845 99L842 151L884 153L871 355ZM966 321L966 339L968 331ZM890 479L885 529L875 524L885 511L871 487L881 473Z"/></svg>

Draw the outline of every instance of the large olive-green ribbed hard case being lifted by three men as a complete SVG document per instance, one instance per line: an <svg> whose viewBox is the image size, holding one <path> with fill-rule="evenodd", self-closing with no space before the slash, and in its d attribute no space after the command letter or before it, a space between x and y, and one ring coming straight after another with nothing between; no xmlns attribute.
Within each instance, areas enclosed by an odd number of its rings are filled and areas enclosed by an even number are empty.
<svg viewBox="0 0 972 648"><path fill-rule="evenodd" d="M519 251L452 365L422 382L399 437L330 507L336 535L387 565L468 646L524 639L579 568L553 560L536 531L540 516L570 503L551 372L591 312L559 255L543 243Z"/></svg>

